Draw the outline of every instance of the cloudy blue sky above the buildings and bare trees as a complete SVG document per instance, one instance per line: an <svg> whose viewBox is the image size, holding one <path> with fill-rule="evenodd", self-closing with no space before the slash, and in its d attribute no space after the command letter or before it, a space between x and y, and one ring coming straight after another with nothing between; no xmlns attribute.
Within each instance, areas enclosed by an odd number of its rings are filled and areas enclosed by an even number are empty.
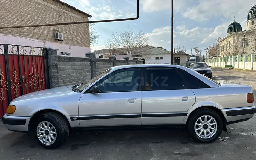
<svg viewBox="0 0 256 160"><path fill-rule="evenodd" d="M136 17L136 0L62 0L93 17L106 20ZM247 11L254 0L174 0L174 48L185 46L187 53L198 46L207 48L218 37L225 37L233 22L246 28ZM171 50L171 0L140 0L138 20L96 23L94 28L101 35L93 50L104 48L106 39L114 30L129 26L142 30L151 37L152 46Z"/></svg>

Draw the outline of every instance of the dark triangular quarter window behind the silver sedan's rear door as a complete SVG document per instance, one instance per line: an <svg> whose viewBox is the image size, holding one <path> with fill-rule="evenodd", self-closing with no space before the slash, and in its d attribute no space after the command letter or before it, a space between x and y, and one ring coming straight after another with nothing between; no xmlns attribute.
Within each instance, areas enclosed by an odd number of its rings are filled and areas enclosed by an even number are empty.
<svg viewBox="0 0 256 160"><path fill-rule="evenodd" d="M185 70L176 69L177 72L181 75L182 79L185 81L185 89L200 89L200 88L209 88L207 84L200 81L193 75L187 73Z"/></svg>

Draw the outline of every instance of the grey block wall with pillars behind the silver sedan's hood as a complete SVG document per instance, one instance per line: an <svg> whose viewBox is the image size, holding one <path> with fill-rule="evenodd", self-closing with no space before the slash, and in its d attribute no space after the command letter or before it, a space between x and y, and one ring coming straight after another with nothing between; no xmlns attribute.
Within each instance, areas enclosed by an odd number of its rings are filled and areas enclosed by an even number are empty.
<svg viewBox="0 0 256 160"><path fill-rule="evenodd" d="M103 71L113 66L143 64L139 58L129 57L116 59L115 55L110 55L109 59L96 58L95 53L85 53L86 57L71 57L57 55L58 49L47 49L48 76L51 88L73 85L88 82Z"/></svg>

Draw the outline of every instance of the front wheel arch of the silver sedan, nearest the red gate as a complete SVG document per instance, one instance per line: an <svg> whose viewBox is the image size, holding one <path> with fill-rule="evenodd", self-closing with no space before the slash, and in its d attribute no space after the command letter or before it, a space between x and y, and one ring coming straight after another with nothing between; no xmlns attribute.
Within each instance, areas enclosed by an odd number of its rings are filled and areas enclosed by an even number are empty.
<svg viewBox="0 0 256 160"><path fill-rule="evenodd" d="M30 121L29 121L29 124L28 124L28 132L29 132L29 133L32 131L33 125L34 125L35 122L36 122L35 119L36 119L37 117L39 117L40 115L42 115L42 114L44 114L44 113L47 113L47 112L54 112L54 113L57 113L57 114L59 114L60 116L62 116L62 117L65 119L66 123L68 124L69 129L71 129L71 126L70 126L70 123L69 123L69 121L68 121L68 118L67 118L63 113L61 113L61 112L59 112L59 111L56 111L56 110L53 110L53 109L43 109L43 110L39 110L39 111L35 112L35 113L32 115L32 117L30 118Z"/></svg>

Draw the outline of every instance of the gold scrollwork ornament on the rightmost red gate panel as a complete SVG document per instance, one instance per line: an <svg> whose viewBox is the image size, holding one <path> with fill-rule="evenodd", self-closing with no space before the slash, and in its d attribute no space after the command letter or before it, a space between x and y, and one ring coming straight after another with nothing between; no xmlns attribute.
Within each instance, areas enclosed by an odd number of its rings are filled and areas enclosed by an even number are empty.
<svg viewBox="0 0 256 160"><path fill-rule="evenodd" d="M40 85L40 82L42 82L42 84L44 84L44 77L42 76L41 78L41 75L40 73L37 72L36 68L35 68L35 65L33 64L33 68L32 68L32 73L29 74L29 81L25 81L25 86L27 87L28 84L29 84L29 90L31 92L34 92L34 91L39 91L40 88L41 88L41 85ZM41 78L41 80L40 80Z"/></svg>

